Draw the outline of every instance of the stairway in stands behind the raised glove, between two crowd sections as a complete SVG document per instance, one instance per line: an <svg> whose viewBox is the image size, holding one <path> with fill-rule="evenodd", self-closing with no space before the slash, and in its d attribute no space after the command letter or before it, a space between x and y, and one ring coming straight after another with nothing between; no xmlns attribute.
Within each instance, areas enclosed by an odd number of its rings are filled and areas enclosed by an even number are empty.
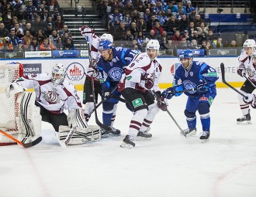
<svg viewBox="0 0 256 197"><path fill-rule="evenodd" d="M94 8L82 8L82 12L77 12L75 8L64 8L63 18L68 29L71 30L74 46L77 49L87 49L85 38L81 36L78 30L82 25L91 26L98 36L108 32L108 29L102 25L102 19Z"/></svg>

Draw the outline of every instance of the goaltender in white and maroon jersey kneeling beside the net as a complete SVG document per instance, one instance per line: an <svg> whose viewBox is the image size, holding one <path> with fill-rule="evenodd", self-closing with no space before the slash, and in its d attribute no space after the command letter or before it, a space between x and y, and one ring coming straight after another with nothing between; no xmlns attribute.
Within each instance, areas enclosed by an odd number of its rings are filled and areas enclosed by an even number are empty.
<svg viewBox="0 0 256 197"><path fill-rule="evenodd" d="M36 92L35 104L40 107L42 121L52 124L55 131L59 132L61 126L66 126L64 129L69 126L69 130L70 127L77 127L81 133L85 134L86 131L86 137L88 137L88 130L85 130L88 126L84 111L81 109L80 99L74 85L65 80L66 73L67 70L64 65L57 63L51 74L40 73L20 77L11 84L11 87L19 85L24 88L34 88ZM11 91L12 89L15 88L11 88ZM64 109L68 110L68 116L64 113ZM73 144L81 144L84 137L76 137L81 138L81 141L74 140ZM99 129L97 138L99 139Z"/></svg>

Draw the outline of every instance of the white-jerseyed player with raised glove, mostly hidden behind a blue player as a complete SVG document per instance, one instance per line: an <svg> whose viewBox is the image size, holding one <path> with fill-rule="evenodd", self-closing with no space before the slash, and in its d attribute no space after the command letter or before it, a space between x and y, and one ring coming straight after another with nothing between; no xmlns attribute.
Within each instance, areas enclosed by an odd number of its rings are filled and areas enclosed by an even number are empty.
<svg viewBox="0 0 256 197"><path fill-rule="evenodd" d="M94 80L96 103L98 102L99 95L102 95L102 86L99 83L99 72L97 68L97 62L100 58L100 53L98 52L99 41L109 40L110 42L113 42L113 38L111 34L107 33L102 34L102 36L99 38L99 36L95 35L93 29L85 25L79 28L79 31L81 31L81 36L84 36L89 42L90 65L88 66L86 73L83 92L83 104L85 104L83 108L85 110L86 121L88 121L90 118L88 114L90 114L90 112L94 109L92 97L92 79ZM113 112L112 124L115 121L115 117L116 111Z"/></svg>

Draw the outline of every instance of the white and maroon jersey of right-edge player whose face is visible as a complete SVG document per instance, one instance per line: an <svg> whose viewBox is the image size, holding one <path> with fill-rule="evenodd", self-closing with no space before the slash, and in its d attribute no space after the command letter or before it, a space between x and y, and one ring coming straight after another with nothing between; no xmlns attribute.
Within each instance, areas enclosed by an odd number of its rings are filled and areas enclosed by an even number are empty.
<svg viewBox="0 0 256 197"><path fill-rule="evenodd" d="M241 53L239 56L239 66L244 67L246 69L246 73L250 80L254 81L256 83L256 65L252 63L251 56L247 56L246 53Z"/></svg>

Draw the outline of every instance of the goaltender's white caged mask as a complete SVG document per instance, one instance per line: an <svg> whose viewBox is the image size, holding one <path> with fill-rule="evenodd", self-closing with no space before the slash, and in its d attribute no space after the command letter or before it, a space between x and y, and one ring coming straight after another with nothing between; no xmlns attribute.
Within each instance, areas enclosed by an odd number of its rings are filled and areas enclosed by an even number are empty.
<svg viewBox="0 0 256 197"><path fill-rule="evenodd" d="M54 83L55 87L64 82L66 74L67 70L62 63L57 63L54 65L52 70L52 82Z"/></svg>

